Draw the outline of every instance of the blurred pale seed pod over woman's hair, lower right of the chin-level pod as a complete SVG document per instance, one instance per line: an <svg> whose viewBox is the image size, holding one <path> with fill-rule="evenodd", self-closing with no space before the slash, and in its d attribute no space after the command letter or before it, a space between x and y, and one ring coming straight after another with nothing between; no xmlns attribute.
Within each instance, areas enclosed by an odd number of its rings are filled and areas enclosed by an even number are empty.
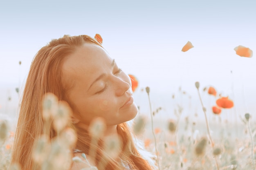
<svg viewBox="0 0 256 170"><path fill-rule="evenodd" d="M105 152L115 159L121 151L121 139L118 135L111 135L105 139Z"/></svg>

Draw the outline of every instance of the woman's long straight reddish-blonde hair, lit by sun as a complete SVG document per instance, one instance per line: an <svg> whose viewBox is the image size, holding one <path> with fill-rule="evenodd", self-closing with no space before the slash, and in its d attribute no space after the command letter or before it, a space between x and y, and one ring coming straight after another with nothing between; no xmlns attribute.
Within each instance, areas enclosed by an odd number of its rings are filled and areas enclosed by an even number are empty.
<svg viewBox="0 0 256 170"><path fill-rule="evenodd" d="M68 100L67 85L62 81L63 59L73 53L77 47L85 42L90 42L101 46L96 40L87 36L69 36L54 39L49 44L38 51L31 63L29 75L22 96L18 124L13 144L11 163L19 163L22 170L32 169L34 142L43 133L42 100L45 93L53 93L59 100L67 101L71 108L74 105ZM132 169L149 170L152 169L150 163L143 159L133 141L130 127L126 124L117 125L118 134L123 141L123 152L119 155ZM99 148L96 155L96 164L103 157L101 144L90 144L90 134L85 130L76 128L78 141L76 148L88 154L89 147ZM51 128L50 139L56 136L56 132ZM128 149L127 149L128 148ZM104 160L104 159L103 159ZM120 168L120 162L105 159L106 169Z"/></svg>

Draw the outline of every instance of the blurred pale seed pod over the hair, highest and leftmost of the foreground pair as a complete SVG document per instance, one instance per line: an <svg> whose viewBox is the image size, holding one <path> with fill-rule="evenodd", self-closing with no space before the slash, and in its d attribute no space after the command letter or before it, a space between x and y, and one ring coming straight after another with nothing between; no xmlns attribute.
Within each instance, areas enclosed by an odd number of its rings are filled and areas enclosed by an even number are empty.
<svg viewBox="0 0 256 170"><path fill-rule="evenodd" d="M43 119L49 120L56 113L58 98L53 93L46 93L43 97Z"/></svg>

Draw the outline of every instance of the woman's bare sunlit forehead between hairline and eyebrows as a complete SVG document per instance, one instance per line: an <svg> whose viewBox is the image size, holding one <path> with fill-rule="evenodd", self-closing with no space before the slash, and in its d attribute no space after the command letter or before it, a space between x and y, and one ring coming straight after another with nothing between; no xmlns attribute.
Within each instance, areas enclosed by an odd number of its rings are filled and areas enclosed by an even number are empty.
<svg viewBox="0 0 256 170"><path fill-rule="evenodd" d="M112 59L106 50L87 42L65 58L62 66L63 76L67 81L86 79L91 82L91 79L95 79L111 62Z"/></svg>

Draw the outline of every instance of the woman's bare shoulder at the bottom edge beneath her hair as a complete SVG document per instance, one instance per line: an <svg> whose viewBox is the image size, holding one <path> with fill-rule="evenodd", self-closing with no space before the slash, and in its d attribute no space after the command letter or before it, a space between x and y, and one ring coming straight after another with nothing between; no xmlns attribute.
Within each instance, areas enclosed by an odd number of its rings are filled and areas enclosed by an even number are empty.
<svg viewBox="0 0 256 170"><path fill-rule="evenodd" d="M75 153L73 157L73 163L70 170L81 170L82 168L88 168L88 170L97 170L94 167L94 162L88 155Z"/></svg>

